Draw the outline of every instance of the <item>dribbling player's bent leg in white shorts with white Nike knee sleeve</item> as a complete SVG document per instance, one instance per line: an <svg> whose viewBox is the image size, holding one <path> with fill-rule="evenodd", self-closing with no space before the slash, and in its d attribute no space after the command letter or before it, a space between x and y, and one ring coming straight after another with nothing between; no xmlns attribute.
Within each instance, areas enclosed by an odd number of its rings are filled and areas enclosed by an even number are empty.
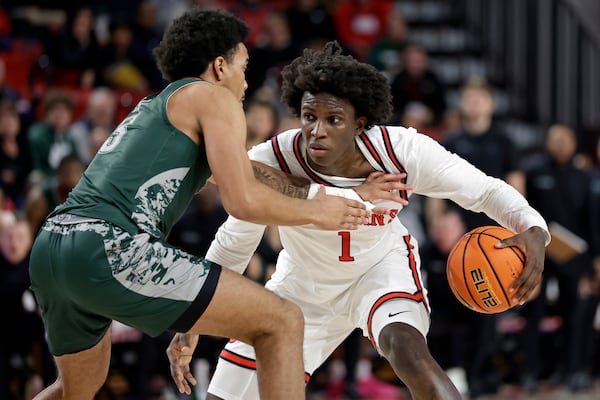
<svg viewBox="0 0 600 400"><path fill-rule="evenodd" d="M435 361L425 337L429 331L427 291L420 275L417 244L409 236L405 248L390 252L357 285L360 314L368 316L365 333L390 362L412 398L460 399Z"/></svg>

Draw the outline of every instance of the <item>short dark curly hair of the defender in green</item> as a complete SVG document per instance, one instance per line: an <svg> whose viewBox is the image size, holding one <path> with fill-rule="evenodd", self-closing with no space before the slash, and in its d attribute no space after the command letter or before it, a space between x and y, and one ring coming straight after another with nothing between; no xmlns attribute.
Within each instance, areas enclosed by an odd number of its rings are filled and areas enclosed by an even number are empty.
<svg viewBox="0 0 600 400"><path fill-rule="evenodd" d="M219 56L230 61L248 33L248 26L228 12L192 8L173 21L153 53L163 77L172 82L204 73Z"/></svg>

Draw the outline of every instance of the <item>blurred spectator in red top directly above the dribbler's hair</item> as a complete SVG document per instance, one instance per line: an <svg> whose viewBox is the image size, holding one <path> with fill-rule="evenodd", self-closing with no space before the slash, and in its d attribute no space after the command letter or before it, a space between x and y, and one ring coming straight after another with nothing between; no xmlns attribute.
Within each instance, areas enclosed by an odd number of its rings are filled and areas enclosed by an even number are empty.
<svg viewBox="0 0 600 400"><path fill-rule="evenodd" d="M373 44L383 36L388 16L393 12L390 0L341 0L333 8L337 36L342 46L364 60Z"/></svg>

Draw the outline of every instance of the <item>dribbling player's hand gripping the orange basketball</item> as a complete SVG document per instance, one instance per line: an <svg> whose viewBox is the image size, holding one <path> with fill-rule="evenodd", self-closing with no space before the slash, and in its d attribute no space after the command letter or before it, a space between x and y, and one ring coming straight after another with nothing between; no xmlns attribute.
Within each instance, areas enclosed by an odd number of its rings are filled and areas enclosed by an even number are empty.
<svg viewBox="0 0 600 400"><path fill-rule="evenodd" d="M523 272L510 287L510 290L514 291L512 298L524 304L536 296L537 289L542 283L546 255L546 233L542 228L534 226L496 244L496 247L510 246L518 247L525 255Z"/></svg>

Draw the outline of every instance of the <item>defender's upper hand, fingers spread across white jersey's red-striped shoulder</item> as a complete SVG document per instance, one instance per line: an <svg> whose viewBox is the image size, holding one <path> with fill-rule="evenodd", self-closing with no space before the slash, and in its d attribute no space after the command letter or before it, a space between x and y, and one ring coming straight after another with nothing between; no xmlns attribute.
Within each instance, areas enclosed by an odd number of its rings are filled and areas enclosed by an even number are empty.
<svg viewBox="0 0 600 400"><path fill-rule="evenodd" d="M412 189L412 186L402 183L405 177L405 173L372 172L362 184L355 186L354 190L365 201L390 200L407 206L408 201L398 196L398 191Z"/></svg>

